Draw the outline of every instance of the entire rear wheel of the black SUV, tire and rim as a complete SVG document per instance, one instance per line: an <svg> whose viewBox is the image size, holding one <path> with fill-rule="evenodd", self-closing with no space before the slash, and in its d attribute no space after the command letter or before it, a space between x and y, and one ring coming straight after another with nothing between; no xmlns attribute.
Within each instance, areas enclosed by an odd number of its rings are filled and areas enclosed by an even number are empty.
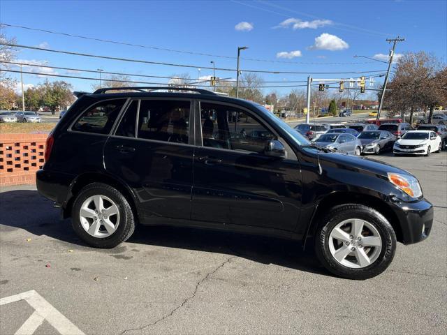
<svg viewBox="0 0 447 335"><path fill-rule="evenodd" d="M98 213L98 209L96 208L95 200L97 197L103 198L103 207L105 207L105 212L103 212L103 214L101 214L101 211ZM85 207L89 202L91 206L89 208ZM109 205L111 206L109 207ZM94 208L92 209L92 207ZM95 215L96 220L93 217L81 218L82 208L87 209L89 213ZM110 214L110 217L105 216L110 209L115 209L116 214ZM93 214L94 211L96 211L96 214ZM108 219L109 221L107 222L112 223L114 228L110 228L109 225L108 228L110 229L106 229L106 225L102 224L103 221L100 220L100 218L103 219L104 222ZM99 223L99 221L101 221L101 223ZM92 228L95 222L98 222L98 229L91 230L91 232L95 234L95 236L93 236L91 233L87 232L87 228L85 227L89 226ZM72 225L73 230L75 230L78 237L94 248L114 248L129 239L135 230L133 211L124 195L117 191L116 188L101 183L89 184L82 188L73 202ZM113 232L110 233L110 230L113 230Z"/></svg>

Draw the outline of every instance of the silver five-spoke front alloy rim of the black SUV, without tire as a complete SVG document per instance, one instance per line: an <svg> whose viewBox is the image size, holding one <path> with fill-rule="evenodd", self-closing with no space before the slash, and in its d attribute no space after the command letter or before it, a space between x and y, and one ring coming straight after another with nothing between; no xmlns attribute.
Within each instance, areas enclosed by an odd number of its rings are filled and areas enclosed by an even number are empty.
<svg viewBox="0 0 447 335"><path fill-rule="evenodd" d="M372 265L382 250L379 231L360 218L340 222L329 234L332 257L345 267L361 269Z"/></svg>

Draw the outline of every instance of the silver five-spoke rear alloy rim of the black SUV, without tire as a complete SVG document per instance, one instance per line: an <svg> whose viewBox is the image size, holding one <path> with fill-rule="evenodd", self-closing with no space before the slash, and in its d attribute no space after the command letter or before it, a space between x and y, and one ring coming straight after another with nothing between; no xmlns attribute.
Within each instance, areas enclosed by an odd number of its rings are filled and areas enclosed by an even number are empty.
<svg viewBox="0 0 447 335"><path fill-rule="evenodd" d="M82 203L79 218L82 228L91 236L109 237L118 228L119 209L105 195L93 195Z"/></svg>

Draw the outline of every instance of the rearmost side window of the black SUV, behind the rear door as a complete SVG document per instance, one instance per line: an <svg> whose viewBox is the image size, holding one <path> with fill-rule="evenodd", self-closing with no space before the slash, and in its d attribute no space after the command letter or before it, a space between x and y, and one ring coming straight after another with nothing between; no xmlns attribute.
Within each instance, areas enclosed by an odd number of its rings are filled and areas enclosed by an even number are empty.
<svg viewBox="0 0 447 335"><path fill-rule="evenodd" d="M71 130L82 133L108 134L126 99L101 101L89 107L73 124Z"/></svg>

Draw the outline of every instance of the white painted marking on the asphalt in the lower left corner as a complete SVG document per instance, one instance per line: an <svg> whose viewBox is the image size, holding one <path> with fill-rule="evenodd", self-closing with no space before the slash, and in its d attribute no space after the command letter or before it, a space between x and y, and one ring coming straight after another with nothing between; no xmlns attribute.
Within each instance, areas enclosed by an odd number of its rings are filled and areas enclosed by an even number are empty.
<svg viewBox="0 0 447 335"><path fill-rule="evenodd" d="M24 300L35 309L34 313L24 322L15 334L34 334L36 329L47 320L54 329L62 335L85 335L81 330L73 325L61 312L57 311L48 301L43 299L35 290L11 295L0 299L0 306L10 304L15 301Z"/></svg>

